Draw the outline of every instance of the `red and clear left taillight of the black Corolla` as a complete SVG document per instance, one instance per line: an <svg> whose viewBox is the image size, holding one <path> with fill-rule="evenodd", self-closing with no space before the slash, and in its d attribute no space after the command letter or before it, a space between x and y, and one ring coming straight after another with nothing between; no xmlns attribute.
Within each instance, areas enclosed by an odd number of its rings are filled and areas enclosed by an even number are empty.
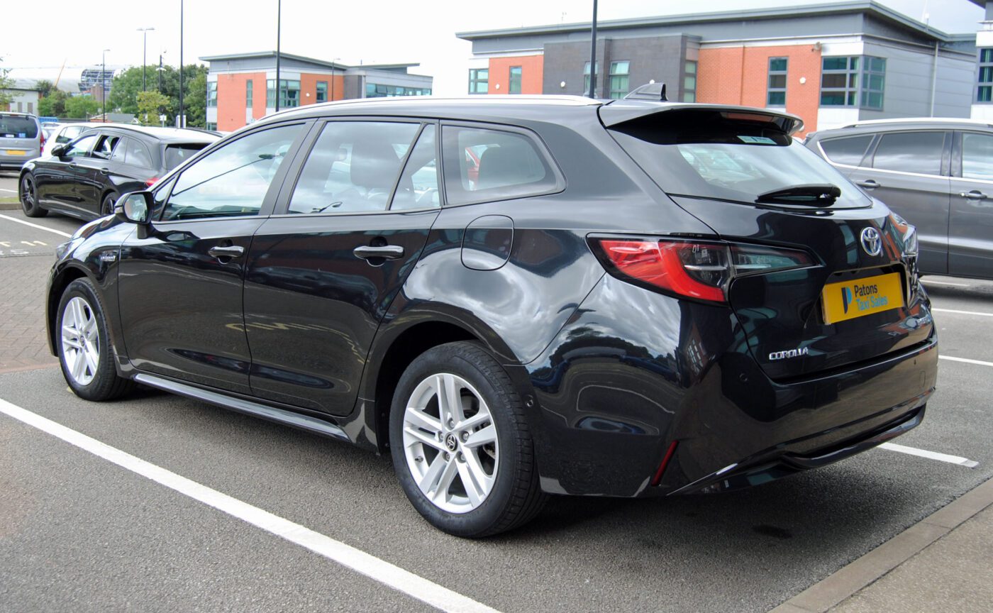
<svg viewBox="0 0 993 613"><path fill-rule="evenodd" d="M803 251L761 245L675 240L597 242L614 272L699 300L726 302L736 276L809 266Z"/></svg>

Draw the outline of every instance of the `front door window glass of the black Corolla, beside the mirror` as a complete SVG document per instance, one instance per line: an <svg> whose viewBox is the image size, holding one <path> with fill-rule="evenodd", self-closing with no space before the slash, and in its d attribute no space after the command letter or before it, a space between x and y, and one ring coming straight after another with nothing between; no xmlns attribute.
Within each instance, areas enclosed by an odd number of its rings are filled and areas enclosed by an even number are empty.
<svg viewBox="0 0 993 613"><path fill-rule="evenodd" d="M247 134L183 171L166 203L164 221L258 215L301 125Z"/></svg>

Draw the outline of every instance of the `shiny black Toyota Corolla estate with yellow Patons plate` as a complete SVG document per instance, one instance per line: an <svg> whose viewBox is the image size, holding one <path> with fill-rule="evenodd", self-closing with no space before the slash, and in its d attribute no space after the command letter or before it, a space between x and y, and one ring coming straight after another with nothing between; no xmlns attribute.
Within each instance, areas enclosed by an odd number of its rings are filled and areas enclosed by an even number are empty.
<svg viewBox="0 0 993 613"><path fill-rule="evenodd" d="M638 97L638 96L635 96ZM768 109L558 96L277 113L59 247L51 348L390 453L459 536L709 493L921 423L913 227Z"/></svg>

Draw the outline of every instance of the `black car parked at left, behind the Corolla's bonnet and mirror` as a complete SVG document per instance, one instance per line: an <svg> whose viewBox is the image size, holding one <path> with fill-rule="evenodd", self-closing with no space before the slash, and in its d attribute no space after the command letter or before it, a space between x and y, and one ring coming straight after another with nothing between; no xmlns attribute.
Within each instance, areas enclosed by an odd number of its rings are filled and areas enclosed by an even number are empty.
<svg viewBox="0 0 993 613"><path fill-rule="evenodd" d="M24 165L21 208L31 218L49 211L82 220L109 215L121 194L148 189L218 138L206 130L123 124L90 128L56 146L51 155Z"/></svg>

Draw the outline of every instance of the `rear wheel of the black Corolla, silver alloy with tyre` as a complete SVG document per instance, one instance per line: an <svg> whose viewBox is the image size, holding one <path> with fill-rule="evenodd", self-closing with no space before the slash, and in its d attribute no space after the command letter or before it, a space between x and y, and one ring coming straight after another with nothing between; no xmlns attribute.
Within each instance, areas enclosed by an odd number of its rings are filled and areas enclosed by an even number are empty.
<svg viewBox="0 0 993 613"><path fill-rule="evenodd" d="M496 535L543 506L522 403L479 345L443 345L414 360L397 385L390 441L407 498L446 533Z"/></svg>

